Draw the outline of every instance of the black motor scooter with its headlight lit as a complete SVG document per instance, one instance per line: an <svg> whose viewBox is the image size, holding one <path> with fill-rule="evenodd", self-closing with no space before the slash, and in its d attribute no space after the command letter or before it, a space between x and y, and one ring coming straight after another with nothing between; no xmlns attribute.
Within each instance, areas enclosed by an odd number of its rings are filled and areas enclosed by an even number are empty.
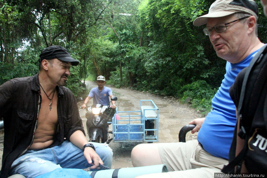
<svg viewBox="0 0 267 178"><path fill-rule="evenodd" d="M111 101L117 101L117 97L113 96ZM112 109L110 107L110 102L107 106L102 104L93 104L91 107L86 108L86 127L90 142L107 142L107 144L111 142L112 139L108 139L108 122L112 121L112 117L115 115L116 109Z"/></svg>

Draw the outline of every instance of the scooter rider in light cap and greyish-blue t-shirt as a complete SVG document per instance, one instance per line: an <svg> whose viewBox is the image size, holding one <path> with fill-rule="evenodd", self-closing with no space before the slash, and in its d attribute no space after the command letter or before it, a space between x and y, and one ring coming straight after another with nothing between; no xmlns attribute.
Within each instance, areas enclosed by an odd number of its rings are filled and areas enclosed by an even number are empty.
<svg viewBox="0 0 267 178"><path fill-rule="evenodd" d="M109 87L105 87L106 79L104 76L100 75L96 78L96 83L98 87L92 88L88 96L84 100L84 104L82 105L82 109L86 107L86 104L93 98L93 104L102 104L107 106L109 104L109 97L113 97L112 90ZM112 109L116 108L115 101L111 101Z"/></svg>

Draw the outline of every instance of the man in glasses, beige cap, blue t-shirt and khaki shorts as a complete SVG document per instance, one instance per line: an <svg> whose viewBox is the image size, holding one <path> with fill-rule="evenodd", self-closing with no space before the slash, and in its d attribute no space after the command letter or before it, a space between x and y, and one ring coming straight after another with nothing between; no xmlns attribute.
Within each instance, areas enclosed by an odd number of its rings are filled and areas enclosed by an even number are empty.
<svg viewBox="0 0 267 178"><path fill-rule="evenodd" d="M204 34L217 55L226 60L226 74L212 99L212 111L198 118L192 133L198 139L186 143L139 144L132 150L134 166L166 164L169 172L148 174L146 178L211 177L228 163L228 154L236 125L236 108L228 90L237 74L248 66L264 45L257 37L258 6L253 0L217 0L207 15L194 20L205 25ZM141 178L142 176L138 177Z"/></svg>

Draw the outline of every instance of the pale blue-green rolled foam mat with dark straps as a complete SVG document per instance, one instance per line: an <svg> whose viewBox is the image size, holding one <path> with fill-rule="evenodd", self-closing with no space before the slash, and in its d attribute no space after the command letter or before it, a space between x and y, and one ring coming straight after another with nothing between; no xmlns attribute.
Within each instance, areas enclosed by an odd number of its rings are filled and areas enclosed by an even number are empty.
<svg viewBox="0 0 267 178"><path fill-rule="evenodd" d="M96 171L93 178L112 178L113 171L116 169L108 169ZM91 175L93 171L88 171ZM118 178L135 178L137 176L152 174L152 173L162 173L168 172L167 166L165 164L152 165L152 166L142 166L142 167L132 167L132 168L120 168L118 171Z"/></svg>

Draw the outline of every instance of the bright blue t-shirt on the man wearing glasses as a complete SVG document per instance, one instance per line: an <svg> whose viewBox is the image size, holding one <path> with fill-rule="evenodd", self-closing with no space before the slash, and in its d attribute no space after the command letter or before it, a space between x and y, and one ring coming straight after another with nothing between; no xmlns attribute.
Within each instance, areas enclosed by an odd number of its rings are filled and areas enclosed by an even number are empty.
<svg viewBox="0 0 267 178"><path fill-rule="evenodd" d="M234 83L237 74L249 65L257 52L258 50L251 53L239 63L226 63L226 74L219 90L214 98L212 98L213 109L206 116L198 132L198 142L211 155L228 159L236 125L236 107L228 91Z"/></svg>

